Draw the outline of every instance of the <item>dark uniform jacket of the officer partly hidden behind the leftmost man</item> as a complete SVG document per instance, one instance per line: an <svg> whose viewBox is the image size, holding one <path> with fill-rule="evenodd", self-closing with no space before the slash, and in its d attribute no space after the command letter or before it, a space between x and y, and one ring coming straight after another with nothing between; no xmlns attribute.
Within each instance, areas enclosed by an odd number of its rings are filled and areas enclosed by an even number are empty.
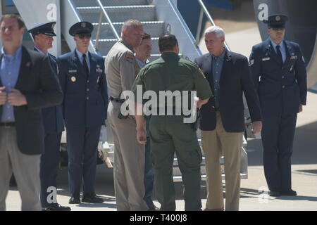
<svg viewBox="0 0 317 225"><path fill-rule="evenodd" d="M37 51L37 49L34 49ZM55 56L49 53L49 63L57 78L57 59ZM51 106L48 108L42 108L42 118L44 124L44 131L49 133L60 133L64 130L63 112L60 105Z"/></svg>

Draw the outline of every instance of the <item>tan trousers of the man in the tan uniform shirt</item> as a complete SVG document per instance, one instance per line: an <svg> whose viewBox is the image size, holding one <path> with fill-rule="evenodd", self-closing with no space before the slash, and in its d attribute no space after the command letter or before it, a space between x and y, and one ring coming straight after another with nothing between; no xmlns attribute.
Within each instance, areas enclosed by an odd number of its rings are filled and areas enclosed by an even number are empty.
<svg viewBox="0 0 317 225"><path fill-rule="evenodd" d="M108 120L115 144L114 187L118 211L148 210L143 200L144 188L144 145L137 142L137 124L134 118L119 119L120 103L108 105Z"/></svg>

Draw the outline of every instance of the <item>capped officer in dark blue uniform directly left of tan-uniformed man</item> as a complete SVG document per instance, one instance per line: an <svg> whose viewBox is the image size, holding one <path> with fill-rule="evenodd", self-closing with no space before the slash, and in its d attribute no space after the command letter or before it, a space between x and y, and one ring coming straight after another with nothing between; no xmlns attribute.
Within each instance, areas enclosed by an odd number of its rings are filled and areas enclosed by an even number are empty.
<svg viewBox="0 0 317 225"><path fill-rule="evenodd" d="M76 23L69 33L76 49L58 58L59 79L64 93L63 117L68 149L70 204L102 203L94 192L98 142L108 105L104 58L88 51L93 26Z"/></svg>

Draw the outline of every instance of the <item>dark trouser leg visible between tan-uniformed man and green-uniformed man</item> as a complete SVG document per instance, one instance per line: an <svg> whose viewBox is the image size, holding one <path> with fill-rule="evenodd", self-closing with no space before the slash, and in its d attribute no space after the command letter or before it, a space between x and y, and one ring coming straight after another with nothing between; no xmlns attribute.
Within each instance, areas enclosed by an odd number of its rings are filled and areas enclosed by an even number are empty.
<svg viewBox="0 0 317 225"><path fill-rule="evenodd" d="M151 117L146 117L147 120L147 144L145 145L145 164L144 164L144 201L149 208L153 208L154 203L152 200L154 188L154 168L151 160L151 143L149 136L149 122Z"/></svg>

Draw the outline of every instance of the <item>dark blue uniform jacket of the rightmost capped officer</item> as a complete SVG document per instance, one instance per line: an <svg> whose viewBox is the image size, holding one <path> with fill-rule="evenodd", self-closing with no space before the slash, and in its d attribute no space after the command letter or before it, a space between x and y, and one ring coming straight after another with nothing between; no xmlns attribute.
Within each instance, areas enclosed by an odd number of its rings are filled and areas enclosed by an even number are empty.
<svg viewBox="0 0 317 225"><path fill-rule="evenodd" d="M306 66L299 45L283 41L286 60L281 66L270 39L256 44L249 58L263 114L298 113L306 105ZM260 79L259 79L260 78Z"/></svg>

